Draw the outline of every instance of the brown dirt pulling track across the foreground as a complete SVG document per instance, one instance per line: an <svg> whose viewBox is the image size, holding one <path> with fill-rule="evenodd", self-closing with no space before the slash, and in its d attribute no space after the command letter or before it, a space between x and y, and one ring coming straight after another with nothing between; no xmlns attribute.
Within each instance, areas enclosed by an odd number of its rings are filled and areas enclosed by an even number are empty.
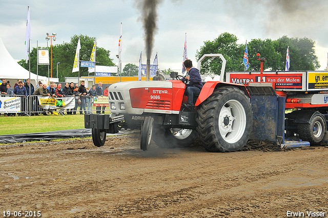
<svg viewBox="0 0 328 218"><path fill-rule="evenodd" d="M138 134L0 146L3 211L42 217L286 217L328 212L328 148L139 149ZM317 213L319 214L319 213ZM14 216L11 216L14 217ZM295 216L292 216L295 217Z"/></svg>

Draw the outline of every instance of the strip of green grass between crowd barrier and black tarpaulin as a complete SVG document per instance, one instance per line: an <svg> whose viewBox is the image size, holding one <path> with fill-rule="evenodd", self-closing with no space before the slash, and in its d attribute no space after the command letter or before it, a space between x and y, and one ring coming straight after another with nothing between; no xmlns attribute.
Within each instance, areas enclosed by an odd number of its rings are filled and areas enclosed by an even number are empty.
<svg viewBox="0 0 328 218"><path fill-rule="evenodd" d="M84 129L84 115L0 116L0 135Z"/></svg>

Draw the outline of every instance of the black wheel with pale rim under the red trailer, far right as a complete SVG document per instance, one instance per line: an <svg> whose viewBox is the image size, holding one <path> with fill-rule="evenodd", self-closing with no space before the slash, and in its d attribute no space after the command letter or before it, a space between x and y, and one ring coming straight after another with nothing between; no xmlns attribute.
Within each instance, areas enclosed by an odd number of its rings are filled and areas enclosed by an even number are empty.
<svg viewBox="0 0 328 218"><path fill-rule="evenodd" d="M312 144L319 143L324 136L324 121L321 116L315 116L310 124L299 124L297 132L302 140Z"/></svg>

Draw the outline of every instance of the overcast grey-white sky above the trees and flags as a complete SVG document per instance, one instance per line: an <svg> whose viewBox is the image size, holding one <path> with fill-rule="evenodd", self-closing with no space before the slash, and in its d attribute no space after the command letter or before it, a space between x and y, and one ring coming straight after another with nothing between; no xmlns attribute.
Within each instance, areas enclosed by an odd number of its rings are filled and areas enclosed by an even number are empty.
<svg viewBox="0 0 328 218"><path fill-rule="evenodd" d="M148 0L150 1L150 0ZM154 0L155 1L155 0ZM118 64L118 38L122 23L122 67L138 66L140 51L146 64L141 0L18 1L0 0L0 37L17 61L25 59L27 6L30 6L32 40L47 46L46 32L57 33L53 44L69 42L74 34L97 38L97 46L111 51ZM195 63L204 41L223 32L244 44L255 38L308 37L316 42L320 69L327 66L328 2L326 0L156 0L157 31L151 53L158 52L159 69L181 70L187 33L188 58ZM50 43L49 43L50 45ZM249 51L250 52L250 51ZM241 54L243 55L243 54ZM291 57L292 60L292 57ZM73 66L73 63L72 63Z"/></svg>

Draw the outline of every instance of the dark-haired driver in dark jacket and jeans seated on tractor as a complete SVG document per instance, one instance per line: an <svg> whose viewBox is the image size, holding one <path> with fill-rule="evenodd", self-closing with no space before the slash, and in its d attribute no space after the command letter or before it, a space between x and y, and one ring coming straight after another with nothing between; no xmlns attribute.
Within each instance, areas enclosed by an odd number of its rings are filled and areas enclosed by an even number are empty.
<svg viewBox="0 0 328 218"><path fill-rule="evenodd" d="M186 83L185 94L188 96L188 104L187 108L189 110L194 110L194 95L198 95L200 93L203 84L201 82L201 77L199 74L199 70L193 67L193 63L191 60L187 59L183 64L186 67L187 75L182 79L182 82Z"/></svg>

